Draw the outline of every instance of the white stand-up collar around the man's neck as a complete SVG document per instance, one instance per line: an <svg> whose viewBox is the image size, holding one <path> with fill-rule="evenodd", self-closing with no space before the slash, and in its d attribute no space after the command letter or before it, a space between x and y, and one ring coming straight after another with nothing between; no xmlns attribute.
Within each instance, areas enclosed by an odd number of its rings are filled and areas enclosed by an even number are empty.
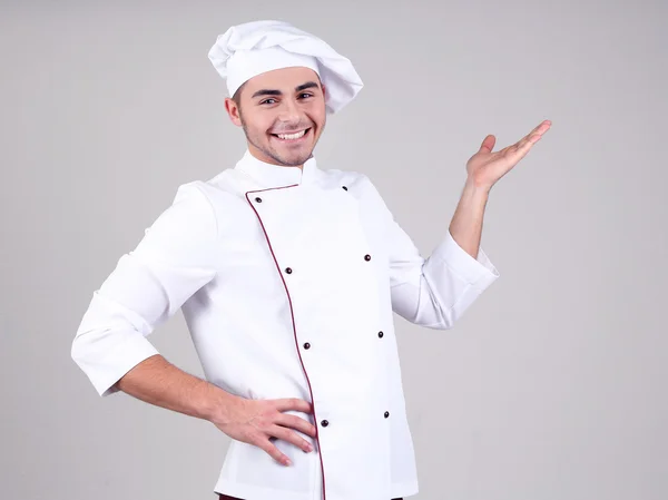
<svg viewBox="0 0 668 500"><path fill-rule="evenodd" d="M236 164L235 169L243 171L267 188L308 184L315 180L318 174L313 156L304 163L303 168L285 167L262 161L253 156L248 149Z"/></svg>

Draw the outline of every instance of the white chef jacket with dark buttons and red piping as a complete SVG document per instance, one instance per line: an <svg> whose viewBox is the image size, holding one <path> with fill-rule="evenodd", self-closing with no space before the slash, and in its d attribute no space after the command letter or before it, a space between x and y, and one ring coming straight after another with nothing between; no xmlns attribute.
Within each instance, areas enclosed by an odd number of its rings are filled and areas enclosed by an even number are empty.
<svg viewBox="0 0 668 500"><path fill-rule="evenodd" d="M446 225L441 216L434 218ZM277 463L232 440L215 492L246 500L390 500L418 492L393 311L445 330L499 276L446 233L429 258L369 177L248 151L179 186L92 294L72 357L100 395L157 354L181 308L206 379L247 399L312 402L317 438ZM296 431L298 432L298 431Z"/></svg>

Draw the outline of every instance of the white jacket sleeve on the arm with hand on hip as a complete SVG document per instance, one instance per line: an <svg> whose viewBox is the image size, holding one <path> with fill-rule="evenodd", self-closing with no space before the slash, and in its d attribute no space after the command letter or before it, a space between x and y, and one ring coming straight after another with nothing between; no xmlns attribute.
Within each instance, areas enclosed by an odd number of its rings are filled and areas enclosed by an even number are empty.
<svg viewBox="0 0 668 500"><path fill-rule="evenodd" d="M217 223L198 183L177 189L137 247L92 294L71 345L71 356L98 394L158 351L146 339L217 272Z"/></svg>

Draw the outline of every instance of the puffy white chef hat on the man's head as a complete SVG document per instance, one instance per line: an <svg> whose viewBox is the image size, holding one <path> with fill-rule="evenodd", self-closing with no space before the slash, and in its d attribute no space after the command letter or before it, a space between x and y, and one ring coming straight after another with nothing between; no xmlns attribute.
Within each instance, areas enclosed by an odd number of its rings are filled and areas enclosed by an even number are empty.
<svg viewBox="0 0 668 500"><path fill-rule="evenodd" d="M219 35L208 57L226 79L229 96L256 75L279 68L313 69L326 87L334 114L355 98L363 84L353 65L320 38L283 21L253 21Z"/></svg>

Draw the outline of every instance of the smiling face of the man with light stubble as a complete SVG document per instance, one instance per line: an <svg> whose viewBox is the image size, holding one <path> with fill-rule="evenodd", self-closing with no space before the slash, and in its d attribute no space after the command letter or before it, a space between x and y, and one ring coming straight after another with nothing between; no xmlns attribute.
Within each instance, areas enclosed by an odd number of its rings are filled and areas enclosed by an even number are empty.
<svg viewBox="0 0 668 500"><path fill-rule="evenodd" d="M244 128L256 158L301 167L325 127L325 88L310 68L295 67L253 77L239 89L238 106L225 99L232 121Z"/></svg>

